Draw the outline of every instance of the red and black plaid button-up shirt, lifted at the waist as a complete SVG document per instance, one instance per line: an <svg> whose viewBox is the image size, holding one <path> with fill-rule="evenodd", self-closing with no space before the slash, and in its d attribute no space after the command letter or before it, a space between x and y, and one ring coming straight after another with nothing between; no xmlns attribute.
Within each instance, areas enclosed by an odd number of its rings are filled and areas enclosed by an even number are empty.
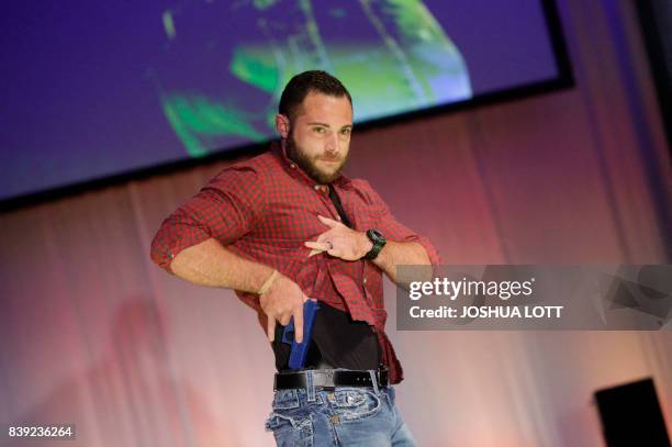
<svg viewBox="0 0 672 447"><path fill-rule="evenodd" d="M434 246L400 224L366 180L340 176L333 185L355 230L378 228L389 241L417 242L432 264L439 264ZM372 325L382 361L390 368L390 381L399 383L402 367L384 333L388 313L382 270L366 259L345 261L325 253L309 257L311 249L303 243L315 241L328 230L318 214L340 220L328 188L316 185L276 145L270 152L225 168L170 214L152 243L152 259L171 272L175 255L213 237L237 255L277 269L307 297ZM258 295L236 294L257 311L266 331Z"/></svg>

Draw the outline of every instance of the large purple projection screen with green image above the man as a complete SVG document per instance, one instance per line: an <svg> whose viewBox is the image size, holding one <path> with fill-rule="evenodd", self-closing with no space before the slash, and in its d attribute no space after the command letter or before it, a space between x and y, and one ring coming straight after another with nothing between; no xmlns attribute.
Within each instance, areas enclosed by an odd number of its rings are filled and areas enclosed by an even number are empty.
<svg viewBox="0 0 672 447"><path fill-rule="evenodd" d="M267 142L282 88L306 69L348 86L358 124L557 80L544 3L10 2L0 206Z"/></svg>

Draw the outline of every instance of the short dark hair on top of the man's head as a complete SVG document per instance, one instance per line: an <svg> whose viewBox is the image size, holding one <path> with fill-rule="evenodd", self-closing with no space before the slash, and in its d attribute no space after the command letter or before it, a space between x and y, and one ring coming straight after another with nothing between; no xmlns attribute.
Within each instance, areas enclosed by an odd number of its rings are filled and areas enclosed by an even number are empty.
<svg viewBox="0 0 672 447"><path fill-rule="evenodd" d="M282 96L280 97L280 114L289 118L290 121L293 121L294 116L296 116L299 112L301 103L312 91L336 98L347 97L348 101L350 102L350 107L352 105L352 98L350 97L348 89L346 89L338 79L326 71L310 70L295 75L287 83L284 90L282 90Z"/></svg>

